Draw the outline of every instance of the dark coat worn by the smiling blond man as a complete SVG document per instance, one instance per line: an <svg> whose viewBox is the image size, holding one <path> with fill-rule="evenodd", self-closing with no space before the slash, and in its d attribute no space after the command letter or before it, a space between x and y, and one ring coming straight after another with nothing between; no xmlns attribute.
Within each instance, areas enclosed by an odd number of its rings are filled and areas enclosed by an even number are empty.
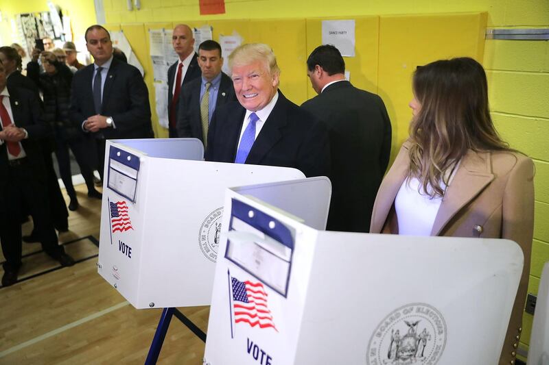
<svg viewBox="0 0 549 365"><path fill-rule="evenodd" d="M208 131L207 161L234 162L246 109L238 101L215 110ZM298 168L307 177L328 176L326 128L282 95L255 139L246 164Z"/></svg>

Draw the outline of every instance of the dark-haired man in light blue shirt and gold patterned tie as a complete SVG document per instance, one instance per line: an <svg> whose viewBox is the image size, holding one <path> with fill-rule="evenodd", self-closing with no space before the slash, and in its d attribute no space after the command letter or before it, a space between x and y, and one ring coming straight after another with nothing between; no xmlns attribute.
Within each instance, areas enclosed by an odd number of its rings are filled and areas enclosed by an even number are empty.
<svg viewBox="0 0 549 365"><path fill-rule="evenodd" d="M181 91L177 118L179 137L198 138L206 145L208 127L215 108L235 101L231 77L221 71L221 46L215 40L205 40L198 47L198 77Z"/></svg>

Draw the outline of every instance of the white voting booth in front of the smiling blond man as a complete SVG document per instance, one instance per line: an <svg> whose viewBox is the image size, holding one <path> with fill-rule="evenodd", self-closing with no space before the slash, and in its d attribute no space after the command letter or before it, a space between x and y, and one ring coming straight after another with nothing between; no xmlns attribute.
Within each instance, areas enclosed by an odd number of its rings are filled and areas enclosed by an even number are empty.
<svg viewBox="0 0 549 365"><path fill-rule="evenodd" d="M304 177L203 154L194 138L107 141L98 272L136 308L209 304L226 187Z"/></svg>

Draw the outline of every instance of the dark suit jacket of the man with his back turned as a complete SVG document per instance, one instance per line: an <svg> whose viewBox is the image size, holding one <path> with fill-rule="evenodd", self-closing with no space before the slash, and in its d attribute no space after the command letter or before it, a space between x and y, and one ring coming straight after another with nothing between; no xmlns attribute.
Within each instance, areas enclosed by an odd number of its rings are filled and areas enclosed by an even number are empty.
<svg viewBox="0 0 549 365"><path fill-rule="evenodd" d="M332 195L327 229L367 232L390 156L391 127L382 99L338 81L301 108L329 132Z"/></svg>

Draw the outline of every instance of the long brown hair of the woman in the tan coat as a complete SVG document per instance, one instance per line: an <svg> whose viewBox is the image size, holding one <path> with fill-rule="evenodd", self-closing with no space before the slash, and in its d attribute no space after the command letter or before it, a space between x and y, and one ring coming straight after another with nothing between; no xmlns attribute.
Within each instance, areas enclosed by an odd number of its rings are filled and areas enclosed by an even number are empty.
<svg viewBox="0 0 549 365"><path fill-rule="evenodd" d="M472 58L420 66L412 86L421 108L410 123L410 177L420 192L442 197L447 171L468 149L509 150L493 126L484 68Z"/></svg>

